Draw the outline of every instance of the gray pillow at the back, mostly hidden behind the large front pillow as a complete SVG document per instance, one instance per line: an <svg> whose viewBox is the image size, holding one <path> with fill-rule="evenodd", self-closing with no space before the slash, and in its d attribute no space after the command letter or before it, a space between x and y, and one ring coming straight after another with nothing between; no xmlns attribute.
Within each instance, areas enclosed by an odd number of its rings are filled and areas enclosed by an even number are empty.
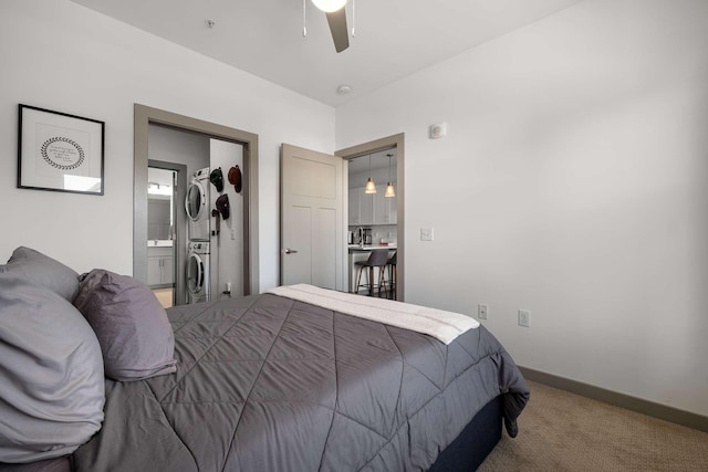
<svg viewBox="0 0 708 472"><path fill-rule="evenodd" d="M0 273L33 282L70 302L79 292L79 274L73 269L30 248L15 249L8 263L0 265Z"/></svg>

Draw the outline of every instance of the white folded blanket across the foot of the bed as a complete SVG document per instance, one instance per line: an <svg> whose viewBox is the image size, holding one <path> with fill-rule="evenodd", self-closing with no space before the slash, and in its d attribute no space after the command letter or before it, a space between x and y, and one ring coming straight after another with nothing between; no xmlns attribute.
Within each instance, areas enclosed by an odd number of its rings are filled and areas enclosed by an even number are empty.
<svg viewBox="0 0 708 472"><path fill-rule="evenodd" d="M360 318L427 334L445 344L450 344L468 329L479 327L477 319L459 313L335 292L308 284L279 286L267 292Z"/></svg>

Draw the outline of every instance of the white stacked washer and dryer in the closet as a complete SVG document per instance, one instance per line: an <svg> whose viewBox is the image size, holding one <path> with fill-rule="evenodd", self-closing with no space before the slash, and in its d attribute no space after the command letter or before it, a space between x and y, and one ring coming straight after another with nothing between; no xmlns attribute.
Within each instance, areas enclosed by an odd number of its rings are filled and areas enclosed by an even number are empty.
<svg viewBox="0 0 708 472"><path fill-rule="evenodd" d="M197 170L187 187L185 210L189 220L187 243L187 303L211 298L209 168Z"/></svg>

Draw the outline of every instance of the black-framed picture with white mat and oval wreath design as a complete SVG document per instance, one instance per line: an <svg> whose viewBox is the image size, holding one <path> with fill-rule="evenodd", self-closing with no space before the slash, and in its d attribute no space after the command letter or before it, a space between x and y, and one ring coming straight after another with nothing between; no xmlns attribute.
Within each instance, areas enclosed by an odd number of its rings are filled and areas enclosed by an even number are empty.
<svg viewBox="0 0 708 472"><path fill-rule="evenodd" d="M105 123L20 104L18 187L103 195Z"/></svg>

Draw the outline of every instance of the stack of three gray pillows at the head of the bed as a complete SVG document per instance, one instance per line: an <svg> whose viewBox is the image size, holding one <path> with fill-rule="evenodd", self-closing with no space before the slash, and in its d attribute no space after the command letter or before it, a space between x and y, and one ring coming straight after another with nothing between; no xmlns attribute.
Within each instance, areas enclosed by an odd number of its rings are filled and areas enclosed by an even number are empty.
<svg viewBox="0 0 708 472"><path fill-rule="evenodd" d="M0 463L72 453L101 429L105 377L171 374L174 343L143 283L104 270L80 282L59 261L14 250L0 265Z"/></svg>

